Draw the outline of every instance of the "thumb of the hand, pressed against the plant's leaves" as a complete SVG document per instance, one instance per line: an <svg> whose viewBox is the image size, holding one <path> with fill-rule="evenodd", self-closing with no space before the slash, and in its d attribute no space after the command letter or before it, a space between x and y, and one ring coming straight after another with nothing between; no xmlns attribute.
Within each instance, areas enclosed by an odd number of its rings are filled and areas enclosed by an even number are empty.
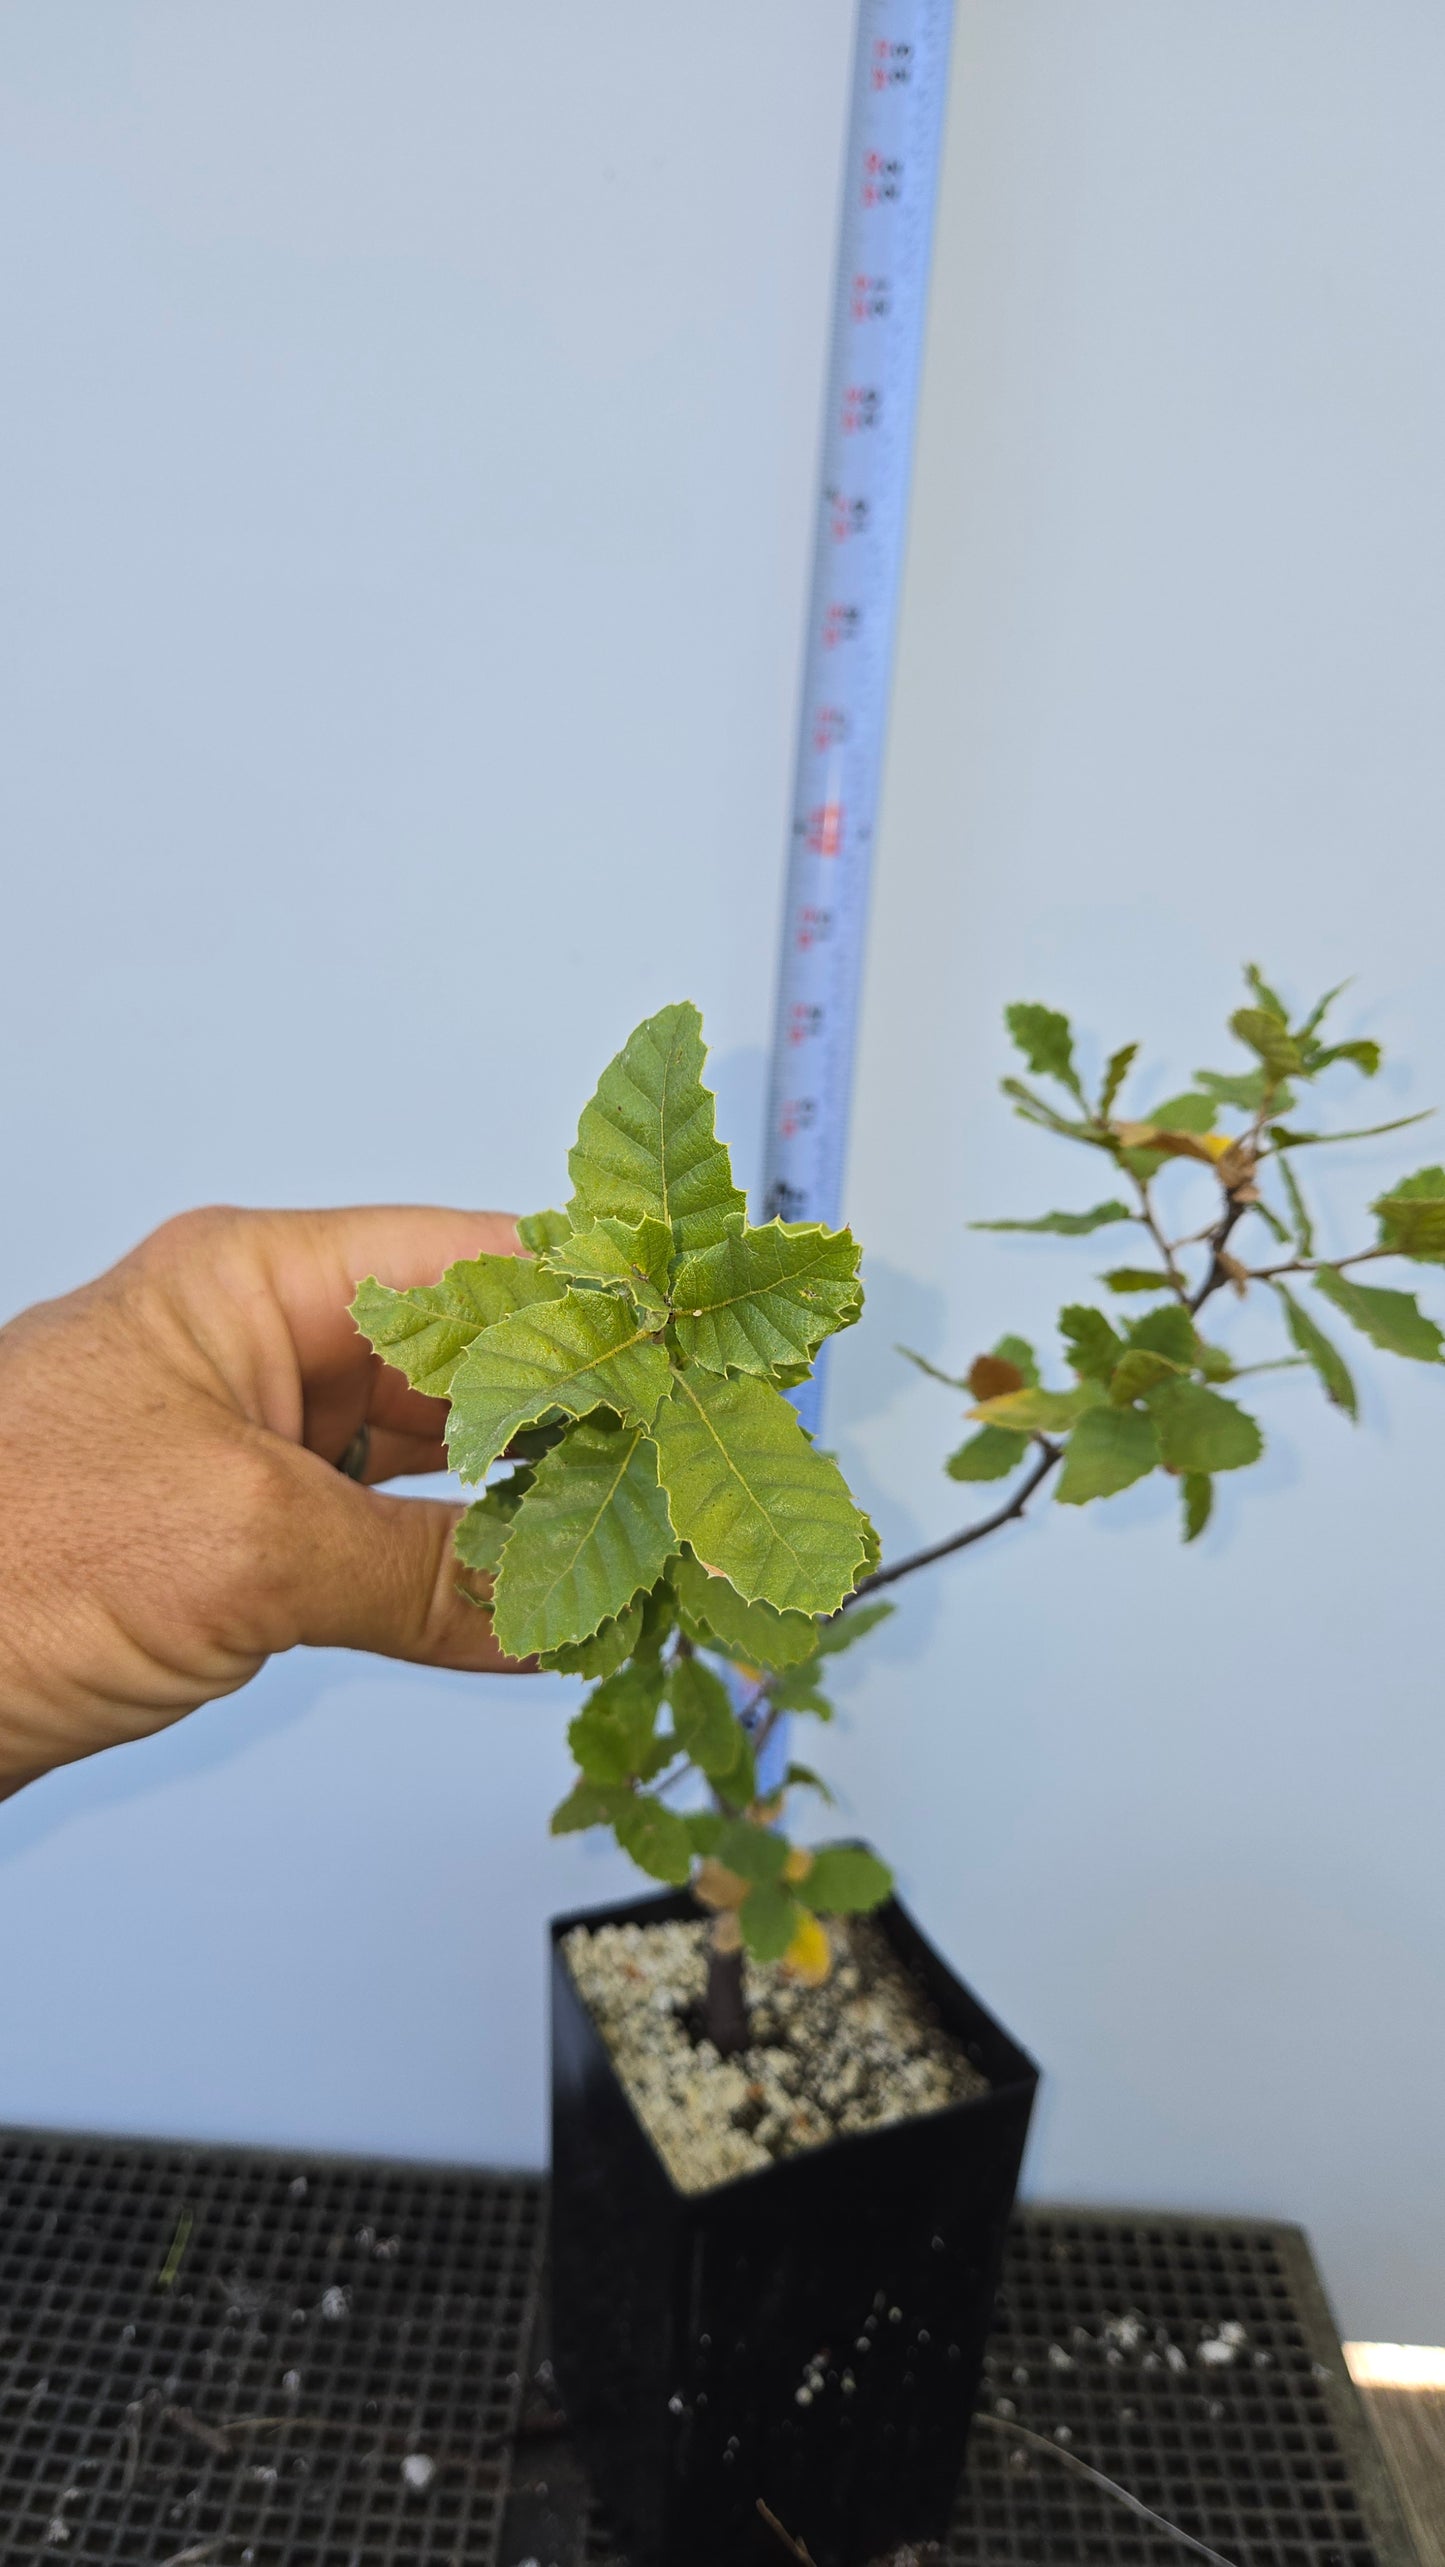
<svg viewBox="0 0 1445 2567"><path fill-rule="evenodd" d="M275 1594L280 1627L267 1648L370 1648L418 1666L518 1674L493 1640L490 1581L452 1550L462 1507L434 1497L385 1497L295 1450L285 1571Z"/></svg>

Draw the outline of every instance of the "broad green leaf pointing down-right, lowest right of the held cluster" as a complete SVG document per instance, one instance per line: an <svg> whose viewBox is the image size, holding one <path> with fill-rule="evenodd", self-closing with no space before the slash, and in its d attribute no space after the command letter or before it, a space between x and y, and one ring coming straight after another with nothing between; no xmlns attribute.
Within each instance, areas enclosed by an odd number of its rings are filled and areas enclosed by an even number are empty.
<svg viewBox="0 0 1445 2567"><path fill-rule="evenodd" d="M652 1440L672 1532L749 1604L814 1615L852 1594L868 1517L767 1381L672 1373Z"/></svg>

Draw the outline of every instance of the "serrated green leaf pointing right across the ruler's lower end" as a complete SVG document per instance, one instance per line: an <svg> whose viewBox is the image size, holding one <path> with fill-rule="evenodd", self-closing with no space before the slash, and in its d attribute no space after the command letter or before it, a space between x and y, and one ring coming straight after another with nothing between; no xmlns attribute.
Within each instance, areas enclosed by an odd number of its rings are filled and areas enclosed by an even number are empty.
<svg viewBox="0 0 1445 2567"><path fill-rule="evenodd" d="M678 1350L714 1373L808 1363L862 1312L857 1240L821 1222L737 1230L672 1278Z"/></svg>

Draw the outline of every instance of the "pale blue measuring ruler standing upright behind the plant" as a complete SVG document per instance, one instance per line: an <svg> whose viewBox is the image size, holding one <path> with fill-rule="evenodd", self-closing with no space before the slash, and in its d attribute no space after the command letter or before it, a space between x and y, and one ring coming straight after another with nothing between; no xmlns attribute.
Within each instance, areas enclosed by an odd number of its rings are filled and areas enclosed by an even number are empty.
<svg viewBox="0 0 1445 2567"><path fill-rule="evenodd" d="M762 1217L837 1222L952 0L860 0ZM816 1425L819 1376L796 1394Z"/></svg>

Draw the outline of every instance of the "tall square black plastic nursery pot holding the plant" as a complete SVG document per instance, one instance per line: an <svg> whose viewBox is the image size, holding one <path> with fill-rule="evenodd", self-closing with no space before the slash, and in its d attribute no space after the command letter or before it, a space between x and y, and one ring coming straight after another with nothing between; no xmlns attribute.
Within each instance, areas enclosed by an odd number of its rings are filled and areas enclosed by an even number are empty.
<svg viewBox="0 0 1445 2567"><path fill-rule="evenodd" d="M945 2534L1039 2072L888 1902L988 2092L680 2192L562 1938L690 1915L665 1892L552 1923L557 2387L629 2567L780 2567L762 2508L865 2567Z"/></svg>

